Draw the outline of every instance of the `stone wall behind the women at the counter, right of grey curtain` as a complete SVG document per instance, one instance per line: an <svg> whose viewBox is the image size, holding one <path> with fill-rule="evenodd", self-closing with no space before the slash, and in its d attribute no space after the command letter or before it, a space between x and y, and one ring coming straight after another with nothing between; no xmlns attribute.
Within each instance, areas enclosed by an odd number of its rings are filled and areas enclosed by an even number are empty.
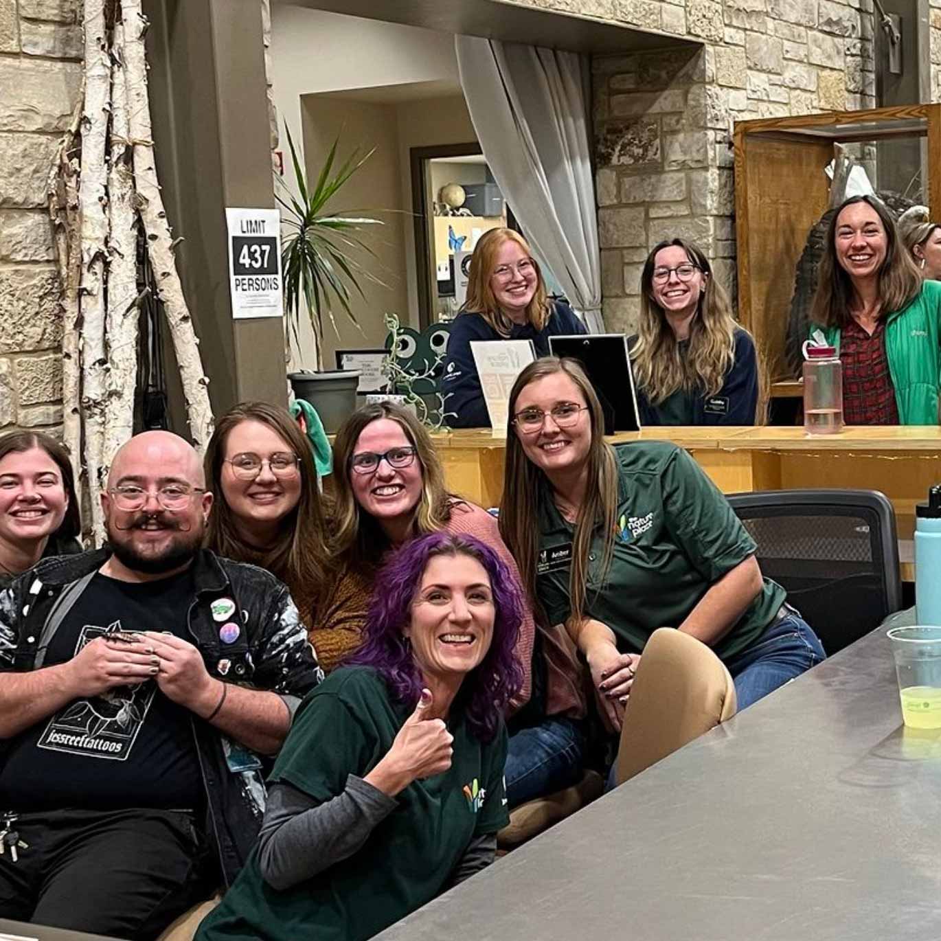
<svg viewBox="0 0 941 941"><path fill-rule="evenodd" d="M697 53L594 61L598 227L607 326L632 330L640 271L691 237L735 292L731 122L875 106L872 0L515 0L659 29ZM941 0L931 0L941 101Z"/></svg>

